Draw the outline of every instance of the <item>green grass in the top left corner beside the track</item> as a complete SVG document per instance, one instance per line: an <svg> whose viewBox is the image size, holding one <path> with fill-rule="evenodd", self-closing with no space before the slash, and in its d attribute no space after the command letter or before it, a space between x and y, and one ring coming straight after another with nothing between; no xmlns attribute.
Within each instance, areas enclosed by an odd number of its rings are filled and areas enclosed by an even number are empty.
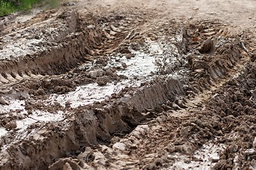
<svg viewBox="0 0 256 170"><path fill-rule="evenodd" d="M9 13L23 11L33 8L35 4L56 8L59 5L58 0L0 0L0 16L6 16Z"/></svg>

